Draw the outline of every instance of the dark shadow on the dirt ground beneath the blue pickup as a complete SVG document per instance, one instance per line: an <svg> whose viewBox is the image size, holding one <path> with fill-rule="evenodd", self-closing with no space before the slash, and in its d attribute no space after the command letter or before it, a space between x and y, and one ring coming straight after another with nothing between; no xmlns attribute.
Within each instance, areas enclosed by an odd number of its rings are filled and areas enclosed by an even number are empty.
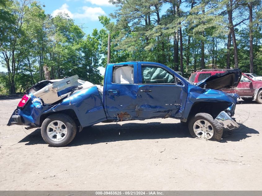
<svg viewBox="0 0 262 196"><path fill-rule="evenodd" d="M223 137L220 142L238 142L251 137L247 134L259 134L253 128L241 125L233 135ZM86 144L97 144L104 142L143 140L143 139L167 139L167 138L191 137L188 128L181 123L126 123L126 124L98 124L84 128L78 133L74 140L67 146L81 146ZM36 129L20 142L28 142L25 145L44 144L40 128Z"/></svg>

